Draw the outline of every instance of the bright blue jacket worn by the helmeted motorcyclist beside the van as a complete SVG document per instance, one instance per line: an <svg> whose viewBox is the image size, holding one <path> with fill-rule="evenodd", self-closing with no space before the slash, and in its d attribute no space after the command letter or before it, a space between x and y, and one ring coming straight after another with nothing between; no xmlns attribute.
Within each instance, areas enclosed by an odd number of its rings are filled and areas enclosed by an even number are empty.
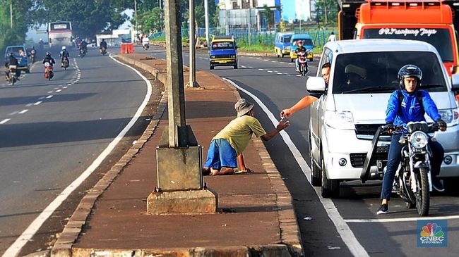
<svg viewBox="0 0 459 257"><path fill-rule="evenodd" d="M436 121L441 118L439 110L436 108L434 100L431 99L429 92L419 90L422 96L422 104L424 110L429 117ZM410 121L426 121L424 112L419 105L417 94L410 94L402 90L403 102L402 106L398 106L398 90L395 90L389 98L386 110L386 123L393 123L394 126L406 125Z"/></svg>

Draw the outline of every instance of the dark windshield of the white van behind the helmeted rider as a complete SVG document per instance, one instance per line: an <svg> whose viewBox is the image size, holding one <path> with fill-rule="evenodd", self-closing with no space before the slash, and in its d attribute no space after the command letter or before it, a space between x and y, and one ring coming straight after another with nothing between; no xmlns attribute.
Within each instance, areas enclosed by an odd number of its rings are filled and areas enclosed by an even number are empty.
<svg viewBox="0 0 459 257"><path fill-rule="evenodd" d="M340 54L333 74L333 94L388 93L398 89L398 70L404 65L422 70L422 86L429 92L445 92L443 64L427 51L386 51Z"/></svg>

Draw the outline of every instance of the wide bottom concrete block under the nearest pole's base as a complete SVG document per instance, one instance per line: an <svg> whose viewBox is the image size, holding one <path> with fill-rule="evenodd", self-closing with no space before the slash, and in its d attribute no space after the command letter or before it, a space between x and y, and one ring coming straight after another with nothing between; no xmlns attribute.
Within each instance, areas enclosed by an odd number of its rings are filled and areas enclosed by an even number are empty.
<svg viewBox="0 0 459 257"><path fill-rule="evenodd" d="M152 192L147 214L210 214L217 211L217 193L211 189Z"/></svg>

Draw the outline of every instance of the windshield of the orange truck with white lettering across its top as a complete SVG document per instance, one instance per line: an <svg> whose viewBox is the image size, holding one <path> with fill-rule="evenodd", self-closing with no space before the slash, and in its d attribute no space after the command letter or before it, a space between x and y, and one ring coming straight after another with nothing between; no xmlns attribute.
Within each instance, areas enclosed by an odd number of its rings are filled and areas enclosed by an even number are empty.
<svg viewBox="0 0 459 257"><path fill-rule="evenodd" d="M454 61L453 39L449 29L410 28L376 28L365 29L364 39L410 39L427 42L435 46L443 62Z"/></svg>

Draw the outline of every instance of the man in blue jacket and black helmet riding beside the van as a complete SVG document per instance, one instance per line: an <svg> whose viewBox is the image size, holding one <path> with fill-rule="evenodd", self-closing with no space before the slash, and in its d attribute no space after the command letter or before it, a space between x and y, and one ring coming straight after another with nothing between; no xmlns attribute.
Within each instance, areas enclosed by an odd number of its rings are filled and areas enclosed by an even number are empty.
<svg viewBox="0 0 459 257"><path fill-rule="evenodd" d="M394 126L406 125L412 121L426 121L424 114L427 113L432 120L436 121L441 131L446 130L446 123L441 120L436 104L431 99L429 92L419 89L422 81L422 71L415 65L405 65L398 71L398 85L400 89L391 94L386 109L386 130L393 131ZM400 97L402 101L400 101ZM398 140L401 134L392 136L389 146L388 163L386 172L383 175L383 187L381 189L381 207L377 214L388 213L389 201L394 182L395 171L402 158L401 150L403 144ZM441 162L443 161L444 150L439 142L429 139L429 148L432 151L430 158L432 187L436 191L443 192L443 184L436 176L440 173Z"/></svg>

